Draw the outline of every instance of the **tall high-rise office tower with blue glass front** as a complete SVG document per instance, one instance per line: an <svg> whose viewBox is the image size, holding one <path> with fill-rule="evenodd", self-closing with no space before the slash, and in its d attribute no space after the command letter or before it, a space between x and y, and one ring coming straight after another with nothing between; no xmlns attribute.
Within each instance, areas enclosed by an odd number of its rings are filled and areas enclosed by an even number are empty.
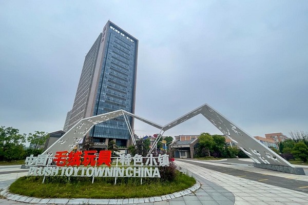
<svg viewBox="0 0 308 205"><path fill-rule="evenodd" d="M86 117L120 109L134 113L137 55L138 40L108 21L85 57L73 108L65 122L67 130ZM129 119L133 129L133 119ZM89 136L97 145L107 144L109 139L122 148L130 143L123 116L95 125Z"/></svg>

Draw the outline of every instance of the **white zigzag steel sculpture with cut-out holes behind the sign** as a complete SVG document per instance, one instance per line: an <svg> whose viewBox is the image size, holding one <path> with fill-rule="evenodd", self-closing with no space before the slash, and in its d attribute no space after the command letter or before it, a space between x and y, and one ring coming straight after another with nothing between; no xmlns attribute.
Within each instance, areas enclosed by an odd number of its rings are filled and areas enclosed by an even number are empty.
<svg viewBox="0 0 308 205"><path fill-rule="evenodd" d="M124 110L117 110L106 114L88 117L80 120L78 124L72 127L56 142L54 142L54 144L50 146L43 154L49 154L50 156L54 156L56 151L67 150L70 152L76 145L78 145L79 141L91 130L91 128L94 125L122 115L124 116L126 125L129 129L132 142L134 145L136 145L136 141L134 141L133 137L133 132L129 125L128 116L139 119L148 125L160 129L161 132L159 136L161 137L165 131L181 124L182 122L192 117L195 117L198 114L202 114L225 136L227 136L230 140L232 140L243 152L245 152L250 158L252 158L255 161L254 163L255 167L271 169L280 172L287 172L292 174L305 175L302 168L295 168L293 165L291 165L291 163L284 160L282 157L273 152L271 149L261 144L261 142L259 142L254 137L248 135L245 131L240 129L233 122L228 120L226 117L221 115L219 112L217 112L207 104L204 104L203 106L200 106L195 110L192 110L191 112L183 115L182 117L170 122L165 126L158 125L155 122L151 122L147 119L144 119L142 117L139 117ZM160 140L160 137L157 137L150 152L153 151L155 145Z"/></svg>

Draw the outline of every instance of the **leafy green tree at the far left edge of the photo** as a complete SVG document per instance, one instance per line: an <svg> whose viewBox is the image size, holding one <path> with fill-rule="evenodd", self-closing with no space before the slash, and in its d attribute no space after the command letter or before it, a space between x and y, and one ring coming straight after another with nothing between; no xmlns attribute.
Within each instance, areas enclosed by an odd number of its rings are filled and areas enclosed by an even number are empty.
<svg viewBox="0 0 308 205"><path fill-rule="evenodd" d="M0 127L0 160L22 159L25 155L23 143L26 134L19 134L19 130L4 126Z"/></svg>

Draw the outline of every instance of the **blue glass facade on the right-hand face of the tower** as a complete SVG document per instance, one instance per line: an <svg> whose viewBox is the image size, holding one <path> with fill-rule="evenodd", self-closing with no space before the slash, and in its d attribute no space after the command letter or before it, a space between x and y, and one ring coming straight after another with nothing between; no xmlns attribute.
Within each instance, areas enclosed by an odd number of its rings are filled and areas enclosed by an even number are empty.
<svg viewBox="0 0 308 205"><path fill-rule="evenodd" d="M107 30L93 115L121 109L133 113L138 43L113 24ZM131 117L129 123L132 123ZM117 139L116 144L120 147L125 147L130 138L123 116L95 125L90 136L94 142Z"/></svg>

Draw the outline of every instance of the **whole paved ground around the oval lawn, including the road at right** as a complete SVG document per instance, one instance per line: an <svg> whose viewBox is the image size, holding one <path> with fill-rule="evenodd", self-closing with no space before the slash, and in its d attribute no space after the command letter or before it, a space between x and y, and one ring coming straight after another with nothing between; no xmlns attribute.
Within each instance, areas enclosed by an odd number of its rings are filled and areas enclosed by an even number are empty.
<svg viewBox="0 0 308 205"><path fill-rule="evenodd" d="M308 176L280 173L249 166L249 163L228 161L176 160L183 172L194 176L201 184L184 192L159 197L133 199L38 199L6 195L0 203L9 204L308 204ZM217 171L218 170L218 171ZM19 171L18 173L13 173ZM25 170L26 171L26 170ZM27 172L14 166L0 166L0 189ZM242 173L245 173L243 175ZM239 175L241 174L241 175ZM250 175L249 175L250 174ZM260 178L263 176L263 178ZM278 177L270 181L272 178ZM278 181L278 182L276 182ZM280 183L279 181L285 181ZM293 182L292 182L293 181ZM284 186L284 184L295 183ZM282 185L284 187L282 187ZM288 188L285 188L288 187ZM199 189L198 189L199 188ZM5 191L2 191L4 194Z"/></svg>

